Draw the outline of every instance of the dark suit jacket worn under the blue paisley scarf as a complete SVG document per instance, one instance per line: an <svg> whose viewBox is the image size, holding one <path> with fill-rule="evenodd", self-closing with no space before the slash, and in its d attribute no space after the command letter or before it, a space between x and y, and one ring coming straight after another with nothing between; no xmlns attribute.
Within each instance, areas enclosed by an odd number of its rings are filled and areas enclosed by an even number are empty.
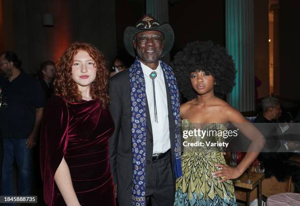
<svg viewBox="0 0 300 206"><path fill-rule="evenodd" d="M169 87L166 83L169 129L171 142L172 168L174 168L175 122L170 101ZM129 190L132 186L132 146L131 146L131 102L129 70L124 70L110 78L109 83L110 106L109 110L115 122L115 132L110 137L109 155L110 166L114 183L118 184L118 190ZM148 105L148 103L147 103ZM146 175L147 168L152 163L152 129L149 108L147 108L147 151L146 151ZM172 174L170 174L172 175ZM146 176L147 177L147 176ZM174 172L173 172L174 177ZM174 178L175 181L175 178ZM147 180L146 180L147 183ZM147 186L147 185L146 185Z"/></svg>

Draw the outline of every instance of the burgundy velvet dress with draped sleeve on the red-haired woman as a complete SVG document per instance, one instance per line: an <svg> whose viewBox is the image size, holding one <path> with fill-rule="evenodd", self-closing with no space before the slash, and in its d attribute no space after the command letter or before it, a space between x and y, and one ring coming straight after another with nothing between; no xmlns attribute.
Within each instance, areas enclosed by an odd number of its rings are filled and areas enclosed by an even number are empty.
<svg viewBox="0 0 300 206"><path fill-rule="evenodd" d="M41 173L49 206L65 206L54 174L64 157L82 206L115 206L108 142L114 132L109 110L99 100L70 103L53 96L41 131Z"/></svg>

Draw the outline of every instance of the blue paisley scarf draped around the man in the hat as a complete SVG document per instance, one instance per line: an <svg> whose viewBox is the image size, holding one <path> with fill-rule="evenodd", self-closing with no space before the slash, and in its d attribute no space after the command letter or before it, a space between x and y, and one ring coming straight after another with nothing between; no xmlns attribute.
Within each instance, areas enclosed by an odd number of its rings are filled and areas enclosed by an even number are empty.
<svg viewBox="0 0 300 206"><path fill-rule="evenodd" d="M175 178L182 176L181 170L181 150L179 137L179 92L175 75L172 68L159 61L163 73L165 74L172 104L172 112L175 120ZM131 137L132 137L132 206L146 206L146 87L141 63L136 58L134 64L129 69L130 77L130 100L131 100Z"/></svg>

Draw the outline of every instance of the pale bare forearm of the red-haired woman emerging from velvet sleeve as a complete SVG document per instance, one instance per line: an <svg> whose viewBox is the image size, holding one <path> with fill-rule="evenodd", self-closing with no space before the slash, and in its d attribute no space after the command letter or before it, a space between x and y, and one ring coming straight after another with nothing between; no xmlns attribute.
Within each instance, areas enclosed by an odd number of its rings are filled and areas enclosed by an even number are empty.
<svg viewBox="0 0 300 206"><path fill-rule="evenodd" d="M70 170L64 158L55 172L54 181L67 206L80 206L73 188Z"/></svg>

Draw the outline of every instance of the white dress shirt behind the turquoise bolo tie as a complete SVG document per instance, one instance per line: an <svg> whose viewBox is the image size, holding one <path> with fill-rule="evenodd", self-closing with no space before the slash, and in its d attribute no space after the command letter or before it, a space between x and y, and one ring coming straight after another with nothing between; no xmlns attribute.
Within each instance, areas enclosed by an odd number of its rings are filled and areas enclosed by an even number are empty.
<svg viewBox="0 0 300 206"><path fill-rule="evenodd" d="M158 67L155 70L152 70L151 68L147 67L142 62L141 66L143 69L146 83L146 95L151 119L153 136L153 154L165 153L171 148L171 143L169 131L167 91L163 70L160 64L158 64ZM155 71L157 73L157 76L154 79L154 86L158 122L155 122L153 85L152 79L149 76L152 71Z"/></svg>

